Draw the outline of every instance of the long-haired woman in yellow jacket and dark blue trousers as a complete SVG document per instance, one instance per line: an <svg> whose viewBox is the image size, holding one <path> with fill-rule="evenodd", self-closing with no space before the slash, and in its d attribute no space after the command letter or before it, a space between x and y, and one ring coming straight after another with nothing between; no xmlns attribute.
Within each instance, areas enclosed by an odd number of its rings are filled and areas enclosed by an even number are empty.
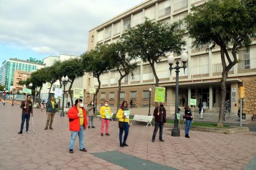
<svg viewBox="0 0 256 170"><path fill-rule="evenodd" d="M128 147L126 144L126 139L129 134L129 116L130 110L128 108L128 103L126 101L122 102L120 109L117 111L116 118L119 119L118 126L119 126L119 142L120 147ZM122 133L124 132L124 142L122 142Z"/></svg>

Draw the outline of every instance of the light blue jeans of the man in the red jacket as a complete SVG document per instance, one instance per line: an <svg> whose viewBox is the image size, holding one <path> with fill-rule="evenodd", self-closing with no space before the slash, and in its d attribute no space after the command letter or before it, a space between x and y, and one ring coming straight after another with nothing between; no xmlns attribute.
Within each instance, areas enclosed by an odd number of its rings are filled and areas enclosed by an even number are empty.
<svg viewBox="0 0 256 170"><path fill-rule="evenodd" d="M71 131L71 138L69 142L69 149L74 149L75 138L79 136L79 149L85 148L85 127L80 126L80 131Z"/></svg>

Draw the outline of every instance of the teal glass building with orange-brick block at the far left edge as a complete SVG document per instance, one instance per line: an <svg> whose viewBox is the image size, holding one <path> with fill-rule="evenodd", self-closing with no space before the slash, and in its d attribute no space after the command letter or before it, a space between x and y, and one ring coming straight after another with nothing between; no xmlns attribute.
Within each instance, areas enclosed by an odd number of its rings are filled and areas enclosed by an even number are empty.
<svg viewBox="0 0 256 170"><path fill-rule="evenodd" d="M11 91L12 87L17 87L21 90L23 87L19 86L19 80L24 80L30 77L33 71L43 68L43 64L38 62L30 62L28 60L9 59L2 63L0 68L0 84L6 87L6 91Z"/></svg>

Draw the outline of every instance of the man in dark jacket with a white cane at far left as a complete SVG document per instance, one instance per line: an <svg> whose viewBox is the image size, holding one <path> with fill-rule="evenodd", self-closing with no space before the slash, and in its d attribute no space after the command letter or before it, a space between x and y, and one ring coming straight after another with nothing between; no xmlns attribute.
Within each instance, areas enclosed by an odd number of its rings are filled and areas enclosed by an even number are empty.
<svg viewBox="0 0 256 170"><path fill-rule="evenodd" d="M20 131L18 132L18 134L22 134L23 132L25 119L26 119L26 133L28 134L30 113L31 113L31 116L33 116L33 107L32 107L30 94L27 95L27 99L25 101L22 101L20 108L22 108L22 123L20 124Z"/></svg>

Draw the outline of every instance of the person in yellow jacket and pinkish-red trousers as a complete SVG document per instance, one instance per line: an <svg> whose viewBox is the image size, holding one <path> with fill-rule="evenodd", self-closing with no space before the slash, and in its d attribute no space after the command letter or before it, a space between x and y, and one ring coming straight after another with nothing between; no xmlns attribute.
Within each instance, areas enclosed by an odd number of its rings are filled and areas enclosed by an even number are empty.
<svg viewBox="0 0 256 170"><path fill-rule="evenodd" d="M105 101L104 103L105 105L100 108L100 115L101 115L100 134L101 136L103 136L104 125L106 124L106 136L109 136L108 127L109 127L109 117L111 114L111 110L110 110L110 107L108 107L108 101Z"/></svg>

